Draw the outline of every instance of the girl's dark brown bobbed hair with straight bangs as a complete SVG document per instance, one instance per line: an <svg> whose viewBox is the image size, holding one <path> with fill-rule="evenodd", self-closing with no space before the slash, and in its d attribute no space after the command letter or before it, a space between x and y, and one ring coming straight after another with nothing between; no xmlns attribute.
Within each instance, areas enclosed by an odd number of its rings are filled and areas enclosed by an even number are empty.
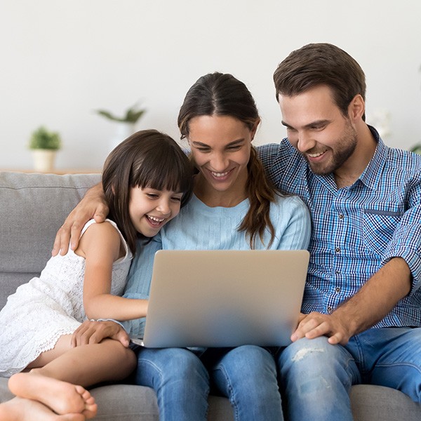
<svg viewBox="0 0 421 421"><path fill-rule="evenodd" d="M135 255L136 240L146 237L131 222L128 206L132 187L182 192L181 206L185 206L193 191L192 163L173 138L156 130L134 133L108 155L102 188L109 218L116 222Z"/></svg>

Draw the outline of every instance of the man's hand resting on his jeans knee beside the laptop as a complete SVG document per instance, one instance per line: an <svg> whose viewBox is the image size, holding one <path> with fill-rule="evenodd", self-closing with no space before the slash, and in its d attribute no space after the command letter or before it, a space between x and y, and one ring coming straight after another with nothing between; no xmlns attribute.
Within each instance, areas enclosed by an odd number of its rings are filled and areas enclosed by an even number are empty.
<svg viewBox="0 0 421 421"><path fill-rule="evenodd" d="M314 339L318 336L327 336L328 342L332 345L345 345L351 338L352 333L349 332L347 326L333 312L332 314L321 314L312 312L300 317L298 328L291 335L291 340L295 342L300 338Z"/></svg>

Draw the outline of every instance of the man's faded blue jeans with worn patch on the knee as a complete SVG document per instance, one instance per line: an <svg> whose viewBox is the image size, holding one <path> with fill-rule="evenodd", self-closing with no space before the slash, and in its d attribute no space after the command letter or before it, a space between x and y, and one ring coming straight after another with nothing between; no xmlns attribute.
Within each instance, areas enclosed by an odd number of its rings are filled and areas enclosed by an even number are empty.
<svg viewBox="0 0 421 421"><path fill-rule="evenodd" d="M279 356L290 421L352 421L349 390L368 383L421 402L421 328L372 328L348 344L302 338Z"/></svg>

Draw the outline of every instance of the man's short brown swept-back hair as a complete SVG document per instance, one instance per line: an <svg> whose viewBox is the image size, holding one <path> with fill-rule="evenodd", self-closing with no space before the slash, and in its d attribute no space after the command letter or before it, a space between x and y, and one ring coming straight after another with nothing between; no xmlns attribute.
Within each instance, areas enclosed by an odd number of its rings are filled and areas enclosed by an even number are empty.
<svg viewBox="0 0 421 421"><path fill-rule="evenodd" d="M366 76L348 53L332 44L307 44L293 51L274 72L276 100L279 94L294 96L326 85L344 116L355 95L366 98ZM363 116L365 119L365 115Z"/></svg>

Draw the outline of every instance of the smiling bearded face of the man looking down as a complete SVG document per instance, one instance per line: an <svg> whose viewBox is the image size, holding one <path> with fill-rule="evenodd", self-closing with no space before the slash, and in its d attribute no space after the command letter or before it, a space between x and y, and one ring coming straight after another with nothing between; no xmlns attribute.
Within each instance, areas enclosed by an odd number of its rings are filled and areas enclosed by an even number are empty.
<svg viewBox="0 0 421 421"><path fill-rule="evenodd" d="M333 101L330 88L316 86L289 97L279 95L288 140L319 175L335 173L352 163L356 130Z"/></svg>

